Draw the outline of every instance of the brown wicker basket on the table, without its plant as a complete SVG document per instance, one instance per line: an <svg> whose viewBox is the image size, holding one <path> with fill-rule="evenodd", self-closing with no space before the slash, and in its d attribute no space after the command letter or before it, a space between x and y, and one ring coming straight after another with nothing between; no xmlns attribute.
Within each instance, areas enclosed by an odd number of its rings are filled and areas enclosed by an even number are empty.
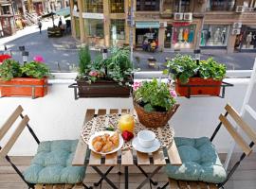
<svg viewBox="0 0 256 189"><path fill-rule="evenodd" d="M169 112L145 112L143 107L134 101L134 107L137 112L139 122L148 128L164 127L176 112L179 104L175 104Z"/></svg>

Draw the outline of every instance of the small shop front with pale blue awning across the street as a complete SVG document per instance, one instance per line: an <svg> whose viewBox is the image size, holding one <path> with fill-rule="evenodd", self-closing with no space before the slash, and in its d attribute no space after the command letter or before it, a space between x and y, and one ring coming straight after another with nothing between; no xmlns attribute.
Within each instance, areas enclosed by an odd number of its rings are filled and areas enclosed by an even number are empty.
<svg viewBox="0 0 256 189"><path fill-rule="evenodd" d="M155 41L158 44L159 22L136 22L136 46L142 47L143 43L152 43Z"/></svg>

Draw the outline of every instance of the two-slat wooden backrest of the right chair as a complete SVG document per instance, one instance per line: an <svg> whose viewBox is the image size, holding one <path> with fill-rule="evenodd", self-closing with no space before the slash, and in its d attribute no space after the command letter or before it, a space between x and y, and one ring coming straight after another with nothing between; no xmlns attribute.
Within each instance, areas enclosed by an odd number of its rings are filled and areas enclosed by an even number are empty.
<svg viewBox="0 0 256 189"><path fill-rule="evenodd" d="M229 131L229 134L233 137L234 141L239 145L246 155L249 155L252 152L252 147L247 144L242 135L233 127L233 125L229 122L227 115L230 115L232 120L235 121L237 126L239 126L247 135L247 137L256 144L256 132L251 129L247 123L242 119L238 112L234 110L229 104L226 105L225 110L227 113L220 114L219 119L222 122L223 126Z"/></svg>

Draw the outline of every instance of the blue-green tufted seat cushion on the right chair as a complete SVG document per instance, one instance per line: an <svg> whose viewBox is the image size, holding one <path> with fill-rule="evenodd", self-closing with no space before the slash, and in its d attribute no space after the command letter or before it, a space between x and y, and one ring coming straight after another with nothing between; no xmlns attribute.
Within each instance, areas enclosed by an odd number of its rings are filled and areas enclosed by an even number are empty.
<svg viewBox="0 0 256 189"><path fill-rule="evenodd" d="M200 180L210 183L221 183L226 180L226 170L209 138L175 137L174 141L182 165L166 165L168 177L174 180Z"/></svg>

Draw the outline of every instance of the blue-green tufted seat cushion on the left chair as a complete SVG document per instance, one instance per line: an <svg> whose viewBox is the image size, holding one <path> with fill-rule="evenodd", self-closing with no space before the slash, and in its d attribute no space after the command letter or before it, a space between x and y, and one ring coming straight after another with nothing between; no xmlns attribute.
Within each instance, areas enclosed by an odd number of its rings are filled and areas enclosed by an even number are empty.
<svg viewBox="0 0 256 189"><path fill-rule="evenodd" d="M37 154L23 173L29 183L80 183L85 167L72 166L78 140L41 142Z"/></svg>

